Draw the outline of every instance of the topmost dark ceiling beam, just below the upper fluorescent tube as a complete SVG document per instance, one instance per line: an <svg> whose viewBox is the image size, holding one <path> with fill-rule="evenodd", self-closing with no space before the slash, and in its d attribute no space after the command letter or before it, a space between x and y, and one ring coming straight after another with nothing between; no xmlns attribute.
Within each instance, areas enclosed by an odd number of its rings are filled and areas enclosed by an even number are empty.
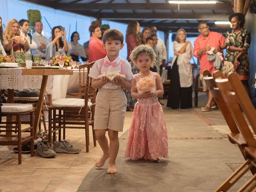
<svg viewBox="0 0 256 192"><path fill-rule="evenodd" d="M33 1L33 0L30 0ZM38 0L36 1L38 2ZM204 6L198 6L193 4L169 4L169 3L55 3L54 8L62 10L91 10L91 9L119 9L119 10L191 10L191 9L202 9L202 10L228 10L232 11L233 6L230 3L217 3L217 4L206 4Z"/></svg>

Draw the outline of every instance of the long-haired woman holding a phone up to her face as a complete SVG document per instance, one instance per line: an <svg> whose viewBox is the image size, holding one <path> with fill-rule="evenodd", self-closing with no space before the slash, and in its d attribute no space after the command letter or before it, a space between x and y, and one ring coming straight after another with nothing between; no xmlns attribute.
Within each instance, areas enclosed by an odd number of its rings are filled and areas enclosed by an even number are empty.
<svg viewBox="0 0 256 192"><path fill-rule="evenodd" d="M63 28L61 30L60 26L56 26L52 28L52 41L46 46L45 60L50 61L56 55L61 54L70 55L68 42L66 41L66 31Z"/></svg>

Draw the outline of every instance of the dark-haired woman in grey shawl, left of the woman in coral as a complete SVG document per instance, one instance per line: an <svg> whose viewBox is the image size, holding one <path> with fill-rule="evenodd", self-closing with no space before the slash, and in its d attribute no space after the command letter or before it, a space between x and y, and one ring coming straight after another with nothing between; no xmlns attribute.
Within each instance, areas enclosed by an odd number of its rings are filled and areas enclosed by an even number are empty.
<svg viewBox="0 0 256 192"><path fill-rule="evenodd" d="M78 43L79 39L78 32L75 31L71 34L70 44L72 45L72 50L70 50L70 55L72 56L73 61L79 61L79 56L81 57L82 61L86 61L84 47Z"/></svg>

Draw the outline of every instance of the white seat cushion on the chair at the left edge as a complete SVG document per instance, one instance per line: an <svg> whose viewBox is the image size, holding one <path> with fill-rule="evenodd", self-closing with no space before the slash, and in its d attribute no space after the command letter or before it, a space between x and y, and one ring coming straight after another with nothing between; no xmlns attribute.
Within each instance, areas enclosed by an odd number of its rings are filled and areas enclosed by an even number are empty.
<svg viewBox="0 0 256 192"><path fill-rule="evenodd" d="M2 103L2 113L22 113L33 109L32 104Z"/></svg>

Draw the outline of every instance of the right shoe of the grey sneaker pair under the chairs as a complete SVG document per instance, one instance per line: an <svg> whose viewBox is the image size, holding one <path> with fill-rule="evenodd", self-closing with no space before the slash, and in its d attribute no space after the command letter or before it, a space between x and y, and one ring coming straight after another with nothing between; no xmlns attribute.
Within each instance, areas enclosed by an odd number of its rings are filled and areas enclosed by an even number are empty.
<svg viewBox="0 0 256 192"><path fill-rule="evenodd" d="M53 150L56 153L68 153L68 154L76 154L81 151L80 148L71 145L66 140L60 141L60 142L54 141Z"/></svg>

